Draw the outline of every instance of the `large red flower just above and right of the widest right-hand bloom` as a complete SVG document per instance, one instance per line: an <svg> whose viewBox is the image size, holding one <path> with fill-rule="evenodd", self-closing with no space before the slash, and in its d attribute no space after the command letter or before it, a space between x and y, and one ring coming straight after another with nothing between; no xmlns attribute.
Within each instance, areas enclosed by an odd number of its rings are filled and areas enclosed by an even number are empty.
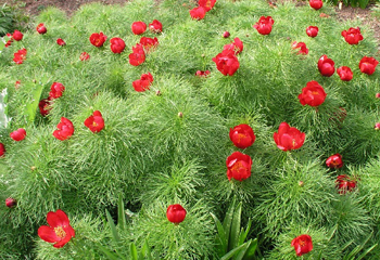
<svg viewBox="0 0 380 260"><path fill-rule="evenodd" d="M325 102L326 95L324 88L317 81L312 80L302 89L299 100L302 105L319 106Z"/></svg>

